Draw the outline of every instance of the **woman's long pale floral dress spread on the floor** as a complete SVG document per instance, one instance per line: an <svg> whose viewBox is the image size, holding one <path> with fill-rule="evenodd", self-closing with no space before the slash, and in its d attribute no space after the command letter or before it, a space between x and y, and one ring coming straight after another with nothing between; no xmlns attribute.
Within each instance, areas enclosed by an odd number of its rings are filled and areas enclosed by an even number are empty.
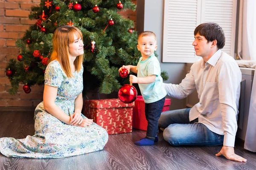
<svg viewBox="0 0 256 170"><path fill-rule="evenodd" d="M74 113L75 99L83 90L82 75L83 68L79 73L73 73L74 78L68 79L58 61L50 62L45 71L45 85L58 87L55 104L69 116ZM3 155L63 158L102 150L108 142L107 131L96 123L88 127L67 125L45 111L43 102L35 109L34 119L34 136L25 139L0 138L0 152Z"/></svg>

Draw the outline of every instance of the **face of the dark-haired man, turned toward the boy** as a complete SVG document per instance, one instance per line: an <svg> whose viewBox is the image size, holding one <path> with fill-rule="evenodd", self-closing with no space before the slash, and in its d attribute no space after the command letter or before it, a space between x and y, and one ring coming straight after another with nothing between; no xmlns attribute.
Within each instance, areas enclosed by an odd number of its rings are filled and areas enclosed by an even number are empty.
<svg viewBox="0 0 256 170"><path fill-rule="evenodd" d="M208 42L204 36L200 34L195 35L195 40L192 43L195 48L195 55L201 57L207 57L211 54L212 42Z"/></svg>

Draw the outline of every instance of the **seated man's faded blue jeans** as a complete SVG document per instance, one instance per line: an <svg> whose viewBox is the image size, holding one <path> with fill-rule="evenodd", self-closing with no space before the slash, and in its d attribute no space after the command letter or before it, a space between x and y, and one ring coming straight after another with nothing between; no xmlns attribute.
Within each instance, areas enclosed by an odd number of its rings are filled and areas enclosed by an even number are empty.
<svg viewBox="0 0 256 170"><path fill-rule="evenodd" d="M209 130L198 119L189 122L188 109L163 112L158 126L165 128L163 138L172 145L219 145L223 144L224 135Z"/></svg>

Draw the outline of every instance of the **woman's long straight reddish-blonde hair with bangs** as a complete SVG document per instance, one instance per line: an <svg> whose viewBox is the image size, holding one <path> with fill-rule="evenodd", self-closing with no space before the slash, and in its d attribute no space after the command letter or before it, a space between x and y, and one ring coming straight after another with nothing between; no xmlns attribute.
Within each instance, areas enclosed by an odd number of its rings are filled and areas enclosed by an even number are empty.
<svg viewBox="0 0 256 170"><path fill-rule="evenodd" d="M76 34L78 38L83 39L81 31L74 26L65 25L65 26L58 27L53 34L53 38L52 38L53 51L49 59L49 62L53 60L58 60L58 62L61 64L63 71L69 78L73 77L73 74L71 72L70 62L68 57L69 56L68 45L74 42L74 36L73 36L74 34ZM84 54L77 56L74 61L74 65L77 72L79 72L81 69L83 59L84 59Z"/></svg>

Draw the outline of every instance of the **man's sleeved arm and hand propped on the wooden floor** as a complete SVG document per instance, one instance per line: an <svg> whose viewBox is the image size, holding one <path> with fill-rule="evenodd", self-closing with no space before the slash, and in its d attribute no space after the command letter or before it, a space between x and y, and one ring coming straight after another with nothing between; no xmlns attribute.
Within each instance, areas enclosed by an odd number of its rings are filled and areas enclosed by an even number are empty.
<svg viewBox="0 0 256 170"><path fill-rule="evenodd" d="M218 90L221 103L222 127L224 129L223 147L216 156L225 156L233 161L247 161L234 153L236 138L236 101L240 91L241 71L236 62L225 62L218 69Z"/></svg>

